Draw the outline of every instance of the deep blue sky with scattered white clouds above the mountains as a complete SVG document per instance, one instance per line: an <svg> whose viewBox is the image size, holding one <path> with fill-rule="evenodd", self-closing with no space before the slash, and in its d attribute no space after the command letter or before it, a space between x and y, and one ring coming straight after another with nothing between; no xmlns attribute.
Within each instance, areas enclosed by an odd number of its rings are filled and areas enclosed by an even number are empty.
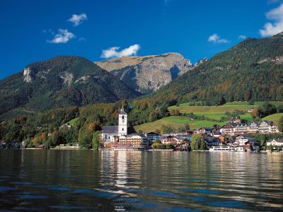
<svg viewBox="0 0 283 212"><path fill-rule="evenodd" d="M4 78L57 55L98 61L179 52L195 63L245 37L283 30L283 5L279 0L0 0L0 27Z"/></svg>

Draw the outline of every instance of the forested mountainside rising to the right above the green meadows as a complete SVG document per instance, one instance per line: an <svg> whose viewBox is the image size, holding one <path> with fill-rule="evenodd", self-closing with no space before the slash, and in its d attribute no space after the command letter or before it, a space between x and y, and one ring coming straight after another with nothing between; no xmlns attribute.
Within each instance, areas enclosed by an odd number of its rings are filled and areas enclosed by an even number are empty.
<svg viewBox="0 0 283 212"><path fill-rule="evenodd" d="M205 104L237 100L283 100L283 33L248 38L231 49L202 61L149 97L201 100Z"/></svg>

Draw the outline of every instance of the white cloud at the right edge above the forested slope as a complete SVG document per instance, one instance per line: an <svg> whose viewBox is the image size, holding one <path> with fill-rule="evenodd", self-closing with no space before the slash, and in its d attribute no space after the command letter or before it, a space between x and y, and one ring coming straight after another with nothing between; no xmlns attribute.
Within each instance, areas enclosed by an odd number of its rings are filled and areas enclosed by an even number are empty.
<svg viewBox="0 0 283 212"><path fill-rule="evenodd" d="M265 23L263 29L260 30L262 37L276 35L283 31L283 4L266 13L268 20L274 20L274 23Z"/></svg>

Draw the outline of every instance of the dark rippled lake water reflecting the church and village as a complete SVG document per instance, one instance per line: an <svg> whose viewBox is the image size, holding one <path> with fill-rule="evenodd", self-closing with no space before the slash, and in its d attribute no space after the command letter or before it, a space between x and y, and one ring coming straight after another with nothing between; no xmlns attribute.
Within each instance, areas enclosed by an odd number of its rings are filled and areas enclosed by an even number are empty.
<svg viewBox="0 0 283 212"><path fill-rule="evenodd" d="M283 211L283 153L0 150L0 209Z"/></svg>

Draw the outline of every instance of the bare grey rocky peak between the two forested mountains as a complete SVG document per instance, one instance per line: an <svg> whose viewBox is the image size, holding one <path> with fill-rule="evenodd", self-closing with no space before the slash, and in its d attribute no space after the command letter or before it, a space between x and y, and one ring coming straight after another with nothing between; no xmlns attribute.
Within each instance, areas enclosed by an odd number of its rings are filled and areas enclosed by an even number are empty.
<svg viewBox="0 0 283 212"><path fill-rule="evenodd" d="M141 93L158 90L192 69L190 60L178 53L122 57L95 63Z"/></svg>

